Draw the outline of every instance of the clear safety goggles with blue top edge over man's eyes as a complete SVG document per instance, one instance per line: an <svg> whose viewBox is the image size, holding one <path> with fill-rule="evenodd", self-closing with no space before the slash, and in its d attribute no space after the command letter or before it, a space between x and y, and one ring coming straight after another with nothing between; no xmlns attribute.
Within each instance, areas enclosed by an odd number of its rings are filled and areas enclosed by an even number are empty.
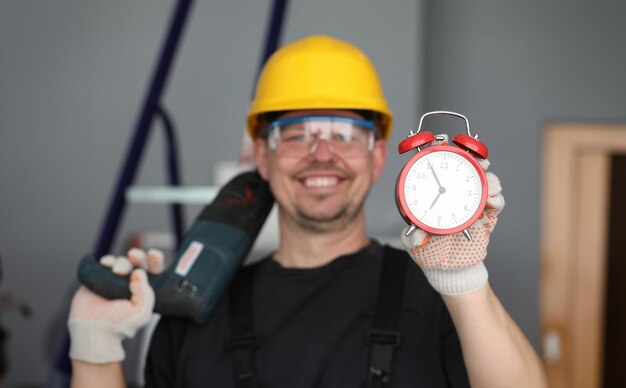
<svg viewBox="0 0 626 388"><path fill-rule="evenodd" d="M277 120L269 126L268 141L281 156L302 157L314 152L319 141L326 141L335 154L364 156L374 146L371 121L337 116L303 116Z"/></svg>

